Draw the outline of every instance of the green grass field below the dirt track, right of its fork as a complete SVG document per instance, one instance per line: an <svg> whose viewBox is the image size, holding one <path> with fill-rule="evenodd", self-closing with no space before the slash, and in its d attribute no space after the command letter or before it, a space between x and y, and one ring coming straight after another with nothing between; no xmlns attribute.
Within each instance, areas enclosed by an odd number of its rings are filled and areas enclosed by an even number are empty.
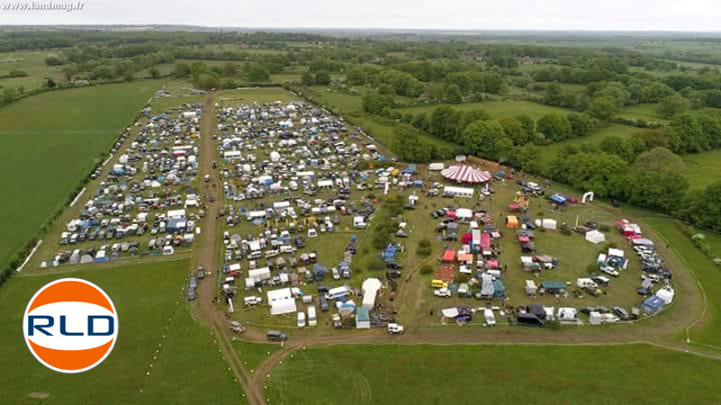
<svg viewBox="0 0 721 405"><path fill-rule="evenodd" d="M343 346L297 352L268 385L280 404L717 403L719 373L643 345Z"/></svg>

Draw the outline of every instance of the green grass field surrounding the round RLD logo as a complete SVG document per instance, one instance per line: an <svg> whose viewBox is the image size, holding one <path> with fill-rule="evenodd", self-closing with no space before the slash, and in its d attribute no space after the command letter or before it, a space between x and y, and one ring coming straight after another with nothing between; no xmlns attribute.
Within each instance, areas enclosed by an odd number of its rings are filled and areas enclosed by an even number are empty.
<svg viewBox="0 0 721 405"><path fill-rule="evenodd" d="M184 300L187 260L14 277L0 291L0 396L5 403L242 403L209 331L192 320ZM97 284L117 309L119 335L105 362L82 374L59 374L25 346L23 311L42 285L63 277ZM157 351L157 352L156 352ZM157 359L154 359L157 357ZM152 366L151 366L152 365ZM150 373L150 374L148 374Z"/></svg>

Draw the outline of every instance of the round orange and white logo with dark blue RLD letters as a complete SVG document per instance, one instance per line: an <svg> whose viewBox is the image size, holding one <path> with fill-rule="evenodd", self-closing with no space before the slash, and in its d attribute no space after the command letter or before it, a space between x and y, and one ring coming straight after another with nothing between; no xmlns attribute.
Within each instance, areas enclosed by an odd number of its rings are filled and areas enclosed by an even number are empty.
<svg viewBox="0 0 721 405"><path fill-rule="evenodd" d="M118 315L96 284L63 278L46 284L25 309L23 333L32 355L60 373L82 373L113 350Z"/></svg>

